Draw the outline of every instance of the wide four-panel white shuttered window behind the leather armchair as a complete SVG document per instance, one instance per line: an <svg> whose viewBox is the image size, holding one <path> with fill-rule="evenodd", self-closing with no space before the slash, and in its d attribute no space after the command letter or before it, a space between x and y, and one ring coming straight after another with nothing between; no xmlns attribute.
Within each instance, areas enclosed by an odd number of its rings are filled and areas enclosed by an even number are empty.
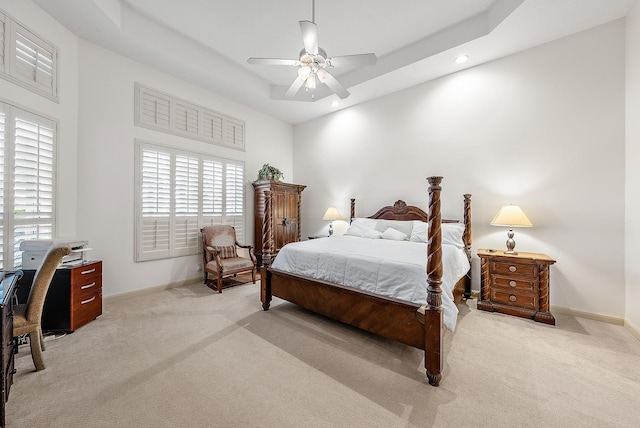
<svg viewBox="0 0 640 428"><path fill-rule="evenodd" d="M150 173L152 172L151 170L145 170L145 159L151 160L153 158L152 153L163 154L161 157L162 165L158 167L160 171L164 172L162 180L155 178L153 173ZM178 169L176 160L178 158L189 159L191 162L197 160L197 191L192 187L194 183L192 163L189 163L191 167L181 169L183 172L190 171L188 173L185 172L181 177L188 176L190 178L177 183L176 174ZM220 185L213 186L213 184L205 182L205 179L215 175L213 173L205 174L205 163L222 165L222 172L218 174L222 178ZM183 165L186 164L183 162ZM148 165L152 165L152 163ZM238 181L237 177L234 176L235 185L232 186L232 190L235 192L234 196L237 198L238 194L240 194L242 198L240 204L242 212L240 215L228 215L226 212L226 198L229 191L226 177L228 166L242 170L241 180ZM135 139L134 261L145 262L200 254L202 251L200 229L213 224L230 224L236 227L237 239L239 242L243 242L246 239L247 230L245 171L245 163L241 160ZM153 181L154 179L156 180L155 182ZM147 190L146 193L151 195L146 199L144 196L145 188ZM182 190L179 195L177 194L178 188ZM152 190L148 191L149 189ZM156 191L156 189L159 190ZM219 203L216 203L215 191L222 192L217 197ZM207 192L211 194L209 195ZM215 213L215 208L207 209L208 207L205 207L207 201L210 202L211 206L220 206L219 215ZM194 202L197 202L197 206L194 205ZM183 209L179 210L178 205ZM145 215L145 206L152 207L156 212L149 211L149 214ZM179 231L178 228L183 228L183 230ZM154 242L153 245L149 244L151 240Z"/></svg>

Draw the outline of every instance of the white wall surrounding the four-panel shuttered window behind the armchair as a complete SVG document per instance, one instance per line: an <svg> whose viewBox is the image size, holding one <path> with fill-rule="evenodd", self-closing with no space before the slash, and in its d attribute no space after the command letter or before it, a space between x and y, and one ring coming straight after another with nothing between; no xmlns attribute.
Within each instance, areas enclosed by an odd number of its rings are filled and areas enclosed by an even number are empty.
<svg viewBox="0 0 640 428"><path fill-rule="evenodd" d="M113 295L201 277L201 256L135 263L134 139L169 144L245 161L246 230L253 230L251 182L270 162L292 176L293 129L273 117L229 101L86 41L79 43L78 234L103 260L103 290ZM134 82L246 121L246 152L135 127ZM252 242L252 233L247 234Z"/></svg>

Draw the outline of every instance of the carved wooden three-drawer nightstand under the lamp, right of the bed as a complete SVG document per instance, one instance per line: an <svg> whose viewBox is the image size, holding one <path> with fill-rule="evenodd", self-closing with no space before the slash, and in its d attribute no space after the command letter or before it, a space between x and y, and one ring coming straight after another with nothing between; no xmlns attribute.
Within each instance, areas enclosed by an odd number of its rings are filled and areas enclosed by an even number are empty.
<svg viewBox="0 0 640 428"><path fill-rule="evenodd" d="M478 250L478 257L478 309L555 325L549 312L549 266L555 260L546 254L488 250Z"/></svg>

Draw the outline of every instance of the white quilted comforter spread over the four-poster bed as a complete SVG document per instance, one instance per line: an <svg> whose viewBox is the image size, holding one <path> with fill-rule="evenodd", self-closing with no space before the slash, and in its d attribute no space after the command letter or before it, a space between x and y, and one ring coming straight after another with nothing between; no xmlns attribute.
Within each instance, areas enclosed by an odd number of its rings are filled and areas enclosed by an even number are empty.
<svg viewBox="0 0 640 428"><path fill-rule="evenodd" d="M442 307L454 331L458 308L452 289L469 270L464 250L442 245ZM423 305L427 300L427 244L335 236L292 242L276 256L274 269Z"/></svg>

